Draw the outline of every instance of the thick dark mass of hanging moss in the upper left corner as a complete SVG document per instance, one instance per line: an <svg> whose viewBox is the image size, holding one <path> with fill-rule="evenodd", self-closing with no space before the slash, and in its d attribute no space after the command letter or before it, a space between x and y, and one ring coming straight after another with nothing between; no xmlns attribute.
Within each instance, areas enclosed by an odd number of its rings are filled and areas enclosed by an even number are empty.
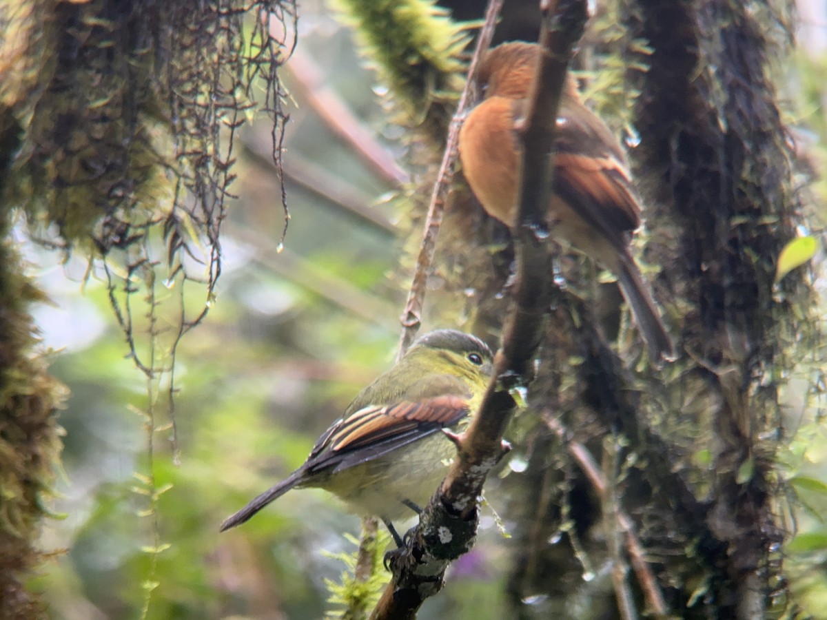
<svg viewBox="0 0 827 620"><path fill-rule="evenodd" d="M286 54L258 22L247 41L236 5L0 2L14 35L2 44L0 103L24 130L4 202L103 255L154 223L186 237L178 212L214 241L232 183L223 130L251 107L256 75L284 121L275 68ZM250 10L259 12L283 9L262 0Z"/></svg>

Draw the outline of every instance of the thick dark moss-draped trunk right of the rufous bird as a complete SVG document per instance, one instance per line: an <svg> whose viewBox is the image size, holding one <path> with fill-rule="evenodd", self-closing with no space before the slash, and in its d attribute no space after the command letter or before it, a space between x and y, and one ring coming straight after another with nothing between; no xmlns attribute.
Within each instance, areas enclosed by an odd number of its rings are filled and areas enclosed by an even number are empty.
<svg viewBox="0 0 827 620"><path fill-rule="evenodd" d="M683 381L712 403L705 415L714 466L699 525L715 537L703 556L717 578L706 579L705 600L719 617L762 618L775 603L775 550L785 533L772 471L783 381L767 377L783 376L798 361L790 356L820 346L808 286L793 277L774 291L772 281L800 206L770 80L786 48L773 41L787 34L778 31L782 3L637 4L640 35L653 50L636 119L638 156L681 227L681 260L663 267L667 281L686 287L692 359ZM700 607L696 617L709 613Z"/></svg>

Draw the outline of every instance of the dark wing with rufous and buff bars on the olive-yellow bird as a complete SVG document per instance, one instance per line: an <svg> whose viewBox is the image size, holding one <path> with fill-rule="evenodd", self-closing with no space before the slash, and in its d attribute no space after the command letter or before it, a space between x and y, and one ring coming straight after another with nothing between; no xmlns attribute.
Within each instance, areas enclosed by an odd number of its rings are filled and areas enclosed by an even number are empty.
<svg viewBox="0 0 827 620"><path fill-rule="evenodd" d="M305 463L306 471L340 471L359 465L453 427L469 413L466 398L453 395L369 405L343 417L319 438Z"/></svg>

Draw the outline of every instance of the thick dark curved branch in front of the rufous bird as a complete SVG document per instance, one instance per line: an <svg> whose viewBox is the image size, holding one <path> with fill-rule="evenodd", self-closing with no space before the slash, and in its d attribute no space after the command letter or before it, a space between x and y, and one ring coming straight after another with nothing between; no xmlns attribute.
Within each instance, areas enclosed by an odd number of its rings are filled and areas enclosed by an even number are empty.
<svg viewBox="0 0 827 620"><path fill-rule="evenodd" d="M490 3L486 16L489 20L495 10L493 5L495 2ZM495 356L495 374L479 413L466 432L456 438L457 460L441 489L423 511L408 546L392 560L393 578L371 618L414 618L424 599L442 588L448 563L471 549L476 536L477 500L482 485L506 451L502 436L514 412L509 388L527 384L533 372L548 299L547 247L538 231L543 229L552 191L552 144L557 106L572 48L580 39L587 17L585 0L543 2L541 9L543 56L529 95L526 121L518 128L523 142L523 166L519 190L520 225L519 230L514 231L517 279L513 308L504 326L503 346ZM472 61L470 78L481 47L478 45L475 61ZM455 120L452 123L455 140L457 131ZM451 150L449 142L446 160L449 160ZM439 202L437 189L434 203ZM426 236L423 245L427 241ZM423 279L424 275L423 271ZM414 318L415 325L418 316ZM403 345L408 331L404 332Z"/></svg>

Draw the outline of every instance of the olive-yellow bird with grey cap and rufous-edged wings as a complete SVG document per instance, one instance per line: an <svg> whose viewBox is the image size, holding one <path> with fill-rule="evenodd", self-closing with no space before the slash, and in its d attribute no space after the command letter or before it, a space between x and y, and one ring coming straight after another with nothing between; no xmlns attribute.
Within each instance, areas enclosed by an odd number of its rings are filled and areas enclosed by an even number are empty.
<svg viewBox="0 0 827 620"><path fill-rule="evenodd" d="M460 432L482 401L493 368L476 336L431 331L393 368L363 389L323 432L304 464L221 525L246 522L294 487L336 494L361 516L391 523L420 511L447 474L457 447L442 432Z"/></svg>

